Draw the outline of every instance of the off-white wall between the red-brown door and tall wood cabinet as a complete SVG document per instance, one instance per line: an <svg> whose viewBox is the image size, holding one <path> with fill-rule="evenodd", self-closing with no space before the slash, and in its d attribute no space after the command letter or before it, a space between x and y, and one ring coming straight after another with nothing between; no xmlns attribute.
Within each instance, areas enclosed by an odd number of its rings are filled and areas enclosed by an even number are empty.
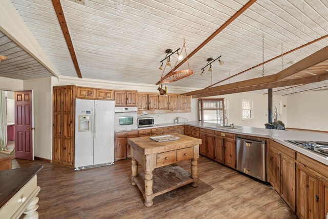
<svg viewBox="0 0 328 219"><path fill-rule="evenodd" d="M52 159L51 77L24 81L24 90L33 90L34 156Z"/></svg>

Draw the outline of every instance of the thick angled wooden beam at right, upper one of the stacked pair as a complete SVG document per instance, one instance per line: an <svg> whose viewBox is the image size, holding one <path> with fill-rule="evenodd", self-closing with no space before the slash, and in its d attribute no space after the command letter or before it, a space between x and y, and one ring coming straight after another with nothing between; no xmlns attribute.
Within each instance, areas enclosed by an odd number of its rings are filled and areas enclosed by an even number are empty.
<svg viewBox="0 0 328 219"><path fill-rule="evenodd" d="M281 81L281 79L292 76L300 71L306 70L306 69L308 69L314 65L317 65L319 63L322 63L326 60L328 60L328 46L324 47L323 49L320 49L319 51L309 55L306 58L303 58L298 63L296 63L276 74L268 75L268 76L264 76L264 77L257 77L257 78L253 78L253 79L248 79L246 81L235 82L235 83L221 85L221 86L217 86L217 87L204 88L204 89L191 91L191 92L184 93L184 94L190 96L190 95L212 93L212 92L217 92L217 91L222 91L222 90L229 90L229 89L232 90L232 89L244 88L244 87L248 87L248 86L255 86L255 85L261 85L261 84L268 85L269 83ZM306 78L311 78L311 77L306 77ZM293 81L293 80L290 80L290 81ZM288 86L288 85L286 85L286 86Z"/></svg>

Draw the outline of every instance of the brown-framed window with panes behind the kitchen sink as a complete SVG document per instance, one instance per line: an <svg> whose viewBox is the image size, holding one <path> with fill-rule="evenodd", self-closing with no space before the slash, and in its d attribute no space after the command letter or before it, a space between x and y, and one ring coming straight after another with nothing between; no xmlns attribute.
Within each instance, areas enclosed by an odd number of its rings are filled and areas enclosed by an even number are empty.
<svg viewBox="0 0 328 219"><path fill-rule="evenodd" d="M209 123L221 123L224 116L224 98L198 99L199 120Z"/></svg>

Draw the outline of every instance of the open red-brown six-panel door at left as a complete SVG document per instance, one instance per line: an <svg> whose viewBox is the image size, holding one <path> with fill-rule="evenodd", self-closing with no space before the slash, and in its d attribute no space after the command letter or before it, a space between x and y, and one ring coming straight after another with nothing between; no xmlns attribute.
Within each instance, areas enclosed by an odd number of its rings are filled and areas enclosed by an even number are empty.
<svg viewBox="0 0 328 219"><path fill-rule="evenodd" d="M34 160L32 91L15 91L15 157Z"/></svg>

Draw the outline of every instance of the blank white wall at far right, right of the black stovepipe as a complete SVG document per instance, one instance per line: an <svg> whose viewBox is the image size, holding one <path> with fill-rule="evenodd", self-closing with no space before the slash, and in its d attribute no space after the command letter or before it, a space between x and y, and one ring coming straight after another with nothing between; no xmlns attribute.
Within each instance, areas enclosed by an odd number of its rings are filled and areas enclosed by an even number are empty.
<svg viewBox="0 0 328 219"><path fill-rule="evenodd" d="M287 96L288 127L328 131L328 90Z"/></svg>

